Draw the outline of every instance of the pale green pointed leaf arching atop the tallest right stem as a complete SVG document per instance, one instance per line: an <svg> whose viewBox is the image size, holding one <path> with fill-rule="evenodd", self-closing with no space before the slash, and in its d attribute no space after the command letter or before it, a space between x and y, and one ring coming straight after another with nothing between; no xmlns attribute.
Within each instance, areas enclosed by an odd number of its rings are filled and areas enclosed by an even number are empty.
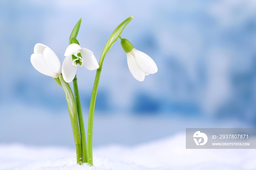
<svg viewBox="0 0 256 170"><path fill-rule="evenodd" d="M121 35L121 33L123 32L124 28L127 26L127 24L129 22L131 22L131 20L133 19L133 16L130 16L129 18L125 19L121 24L119 24L116 29L113 31L113 33L111 34L108 42L106 43L103 51L102 51L102 56L105 56L106 53L108 53L109 49L112 47L112 45L114 44L114 42L116 42L116 40L118 39L118 37ZM101 61L99 61L101 62ZM103 61L102 61L103 62Z"/></svg>

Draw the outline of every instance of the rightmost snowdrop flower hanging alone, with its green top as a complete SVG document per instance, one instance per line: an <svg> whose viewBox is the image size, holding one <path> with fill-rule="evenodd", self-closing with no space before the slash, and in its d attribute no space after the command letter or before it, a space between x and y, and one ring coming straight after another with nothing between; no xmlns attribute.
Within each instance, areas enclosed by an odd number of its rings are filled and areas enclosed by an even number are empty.
<svg viewBox="0 0 256 170"><path fill-rule="evenodd" d="M132 76L143 81L145 76L157 72L157 65L147 54L133 48L132 44L124 38L121 38L121 46L127 54L127 63Z"/></svg>

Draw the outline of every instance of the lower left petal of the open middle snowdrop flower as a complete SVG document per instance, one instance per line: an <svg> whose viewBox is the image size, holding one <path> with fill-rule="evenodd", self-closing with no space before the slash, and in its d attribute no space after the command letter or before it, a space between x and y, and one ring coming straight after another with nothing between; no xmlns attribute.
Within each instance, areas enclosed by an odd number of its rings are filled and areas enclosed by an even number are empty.
<svg viewBox="0 0 256 170"><path fill-rule="evenodd" d="M65 82L68 82L68 83L71 82L76 75L77 66L75 65L73 66L72 62L73 62L72 56L68 55L64 59L62 64L62 69L61 69L63 79L65 80Z"/></svg>

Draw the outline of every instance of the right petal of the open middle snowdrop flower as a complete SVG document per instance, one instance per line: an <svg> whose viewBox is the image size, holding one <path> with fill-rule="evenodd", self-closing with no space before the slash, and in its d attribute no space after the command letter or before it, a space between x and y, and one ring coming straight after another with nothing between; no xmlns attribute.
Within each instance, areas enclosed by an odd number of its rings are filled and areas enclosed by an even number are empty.
<svg viewBox="0 0 256 170"><path fill-rule="evenodd" d="M82 48L80 52L83 58L83 64L88 70L95 70L99 68L99 64L93 54L93 51Z"/></svg>

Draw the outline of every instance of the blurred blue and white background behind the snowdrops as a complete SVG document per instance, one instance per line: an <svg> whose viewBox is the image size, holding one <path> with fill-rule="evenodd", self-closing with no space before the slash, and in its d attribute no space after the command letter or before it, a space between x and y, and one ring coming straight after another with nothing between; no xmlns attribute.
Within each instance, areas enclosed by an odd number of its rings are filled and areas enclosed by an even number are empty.
<svg viewBox="0 0 256 170"><path fill-rule="evenodd" d="M99 60L112 31L154 59L158 72L132 77L120 40L106 55L94 144L137 144L185 128L255 127L254 0L0 1L0 143L74 146L63 89L30 63L36 43L64 60L77 39ZM77 72L87 121L95 70ZM72 84L71 84L72 86Z"/></svg>

